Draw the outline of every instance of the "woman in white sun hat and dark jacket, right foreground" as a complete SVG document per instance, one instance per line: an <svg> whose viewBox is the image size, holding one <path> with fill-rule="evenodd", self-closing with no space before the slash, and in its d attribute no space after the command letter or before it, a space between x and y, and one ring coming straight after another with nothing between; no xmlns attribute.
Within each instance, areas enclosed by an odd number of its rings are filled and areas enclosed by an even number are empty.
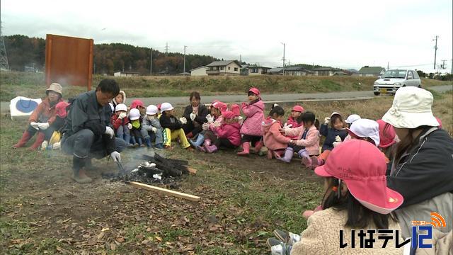
<svg viewBox="0 0 453 255"><path fill-rule="evenodd" d="M387 186L404 198L401 208L395 210L403 238L411 237L413 220L431 222L431 212L439 213L446 222L445 227L433 231L452 231L453 139L438 128L432 101L425 89L403 87L382 117L400 139Z"/></svg>

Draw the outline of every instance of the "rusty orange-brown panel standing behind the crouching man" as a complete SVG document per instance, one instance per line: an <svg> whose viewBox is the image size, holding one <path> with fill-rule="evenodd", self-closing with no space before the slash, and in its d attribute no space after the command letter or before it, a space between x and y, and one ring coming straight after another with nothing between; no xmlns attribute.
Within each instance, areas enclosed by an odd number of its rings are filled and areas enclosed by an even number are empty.
<svg viewBox="0 0 453 255"><path fill-rule="evenodd" d="M45 42L45 83L86 86L93 78L93 39L47 35Z"/></svg>

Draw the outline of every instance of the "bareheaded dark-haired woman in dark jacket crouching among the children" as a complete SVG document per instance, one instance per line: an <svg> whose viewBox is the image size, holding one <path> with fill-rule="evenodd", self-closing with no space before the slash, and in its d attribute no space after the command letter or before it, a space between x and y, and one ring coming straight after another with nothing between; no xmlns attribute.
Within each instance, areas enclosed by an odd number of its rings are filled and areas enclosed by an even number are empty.
<svg viewBox="0 0 453 255"><path fill-rule="evenodd" d="M206 115L209 113L204 104L200 103L200 93L190 93L190 106L185 107L183 117L188 121L183 125L185 136L190 139L202 131L203 123L207 123Z"/></svg>

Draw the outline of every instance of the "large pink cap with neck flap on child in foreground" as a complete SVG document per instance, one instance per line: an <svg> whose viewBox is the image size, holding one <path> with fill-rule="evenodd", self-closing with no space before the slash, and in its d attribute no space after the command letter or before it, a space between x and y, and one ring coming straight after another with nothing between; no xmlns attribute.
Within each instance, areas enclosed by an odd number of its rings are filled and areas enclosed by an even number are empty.
<svg viewBox="0 0 453 255"><path fill-rule="evenodd" d="M329 154L326 164L314 171L344 181L351 195L374 212L389 214L403 203L400 193L387 188L384 154L367 141L341 143Z"/></svg>

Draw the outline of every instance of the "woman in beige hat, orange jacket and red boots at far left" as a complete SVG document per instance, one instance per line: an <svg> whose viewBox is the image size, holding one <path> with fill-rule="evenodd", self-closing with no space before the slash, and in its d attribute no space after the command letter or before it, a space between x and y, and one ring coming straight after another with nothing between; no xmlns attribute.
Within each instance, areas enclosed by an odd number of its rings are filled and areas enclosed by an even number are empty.
<svg viewBox="0 0 453 255"><path fill-rule="evenodd" d="M52 125L57 116L55 106L62 101L62 86L57 83L52 83L50 84L49 89L46 89L45 94L47 96L42 100L35 111L33 111L30 118L28 118L28 128L23 132L21 140L19 140L16 145L13 145L14 149L24 147L36 132L38 132L36 140L29 149L38 149L44 141L47 132L54 131L48 128ZM50 136L52 136L52 134L50 134Z"/></svg>

